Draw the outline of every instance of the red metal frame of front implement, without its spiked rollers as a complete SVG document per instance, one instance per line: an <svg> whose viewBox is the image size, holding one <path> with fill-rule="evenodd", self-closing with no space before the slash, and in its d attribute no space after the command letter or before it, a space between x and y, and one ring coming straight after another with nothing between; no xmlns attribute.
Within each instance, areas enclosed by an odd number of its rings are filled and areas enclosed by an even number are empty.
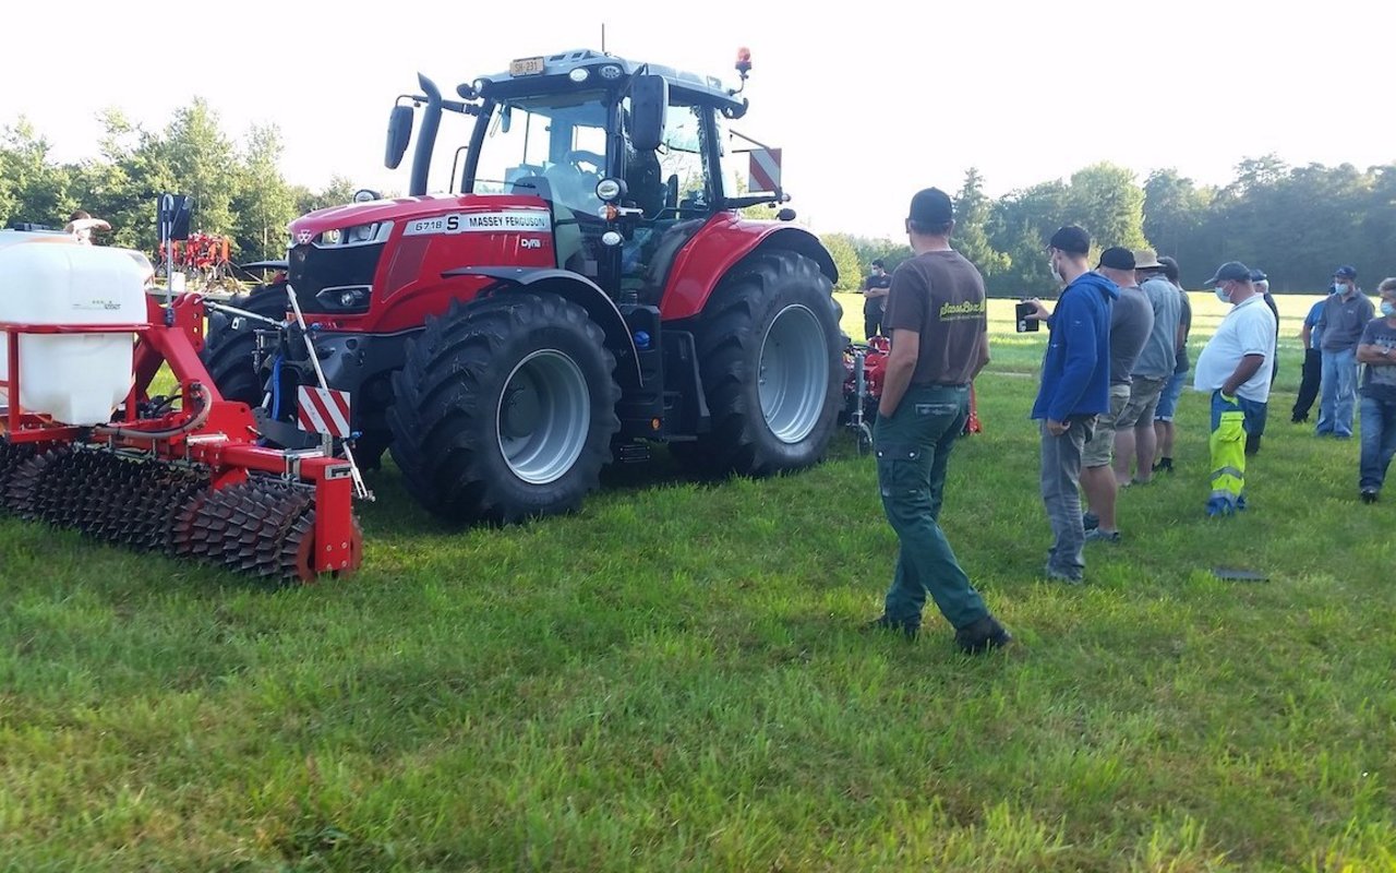
<svg viewBox="0 0 1396 873"><path fill-rule="evenodd" d="M288 453L262 448L255 420L246 404L219 395L198 352L204 346L204 300L198 295L174 298L166 310L147 299L145 324L17 324L0 321L10 335L7 409L0 436L11 443L106 444L134 450L162 461L190 461L207 467L214 490L247 480L248 471L299 479L315 489L314 555L307 574L349 573L362 562L360 535L353 520L353 478L348 461L318 453ZM20 406L20 342L24 335L134 334L135 379L126 399L126 415L110 426L74 427ZM140 404L151 399L149 388L162 365L169 365L179 383L181 409L161 418L140 419ZM190 426L204 411L202 422ZM172 433L173 432L173 433ZM149 436L145 436L149 433Z"/></svg>

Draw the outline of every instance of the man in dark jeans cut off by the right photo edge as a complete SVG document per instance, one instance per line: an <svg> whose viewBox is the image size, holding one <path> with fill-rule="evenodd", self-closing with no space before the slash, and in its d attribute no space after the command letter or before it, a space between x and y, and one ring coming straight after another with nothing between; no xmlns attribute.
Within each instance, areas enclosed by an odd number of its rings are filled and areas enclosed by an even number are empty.
<svg viewBox="0 0 1396 873"><path fill-rule="evenodd" d="M1362 330L1357 360L1362 377L1362 455L1357 487L1362 503L1376 503L1386 469L1396 455L1396 278L1376 286L1382 314Z"/></svg>

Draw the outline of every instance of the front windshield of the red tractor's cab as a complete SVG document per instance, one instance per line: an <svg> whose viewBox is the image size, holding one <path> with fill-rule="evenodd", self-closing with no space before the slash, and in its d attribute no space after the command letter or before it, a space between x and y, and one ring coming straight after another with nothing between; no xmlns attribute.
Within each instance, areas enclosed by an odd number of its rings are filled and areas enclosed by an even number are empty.
<svg viewBox="0 0 1396 873"><path fill-rule="evenodd" d="M602 205L596 183L606 172L604 99L604 92L582 92L498 103L470 190L536 193L542 179L554 203L595 215Z"/></svg>

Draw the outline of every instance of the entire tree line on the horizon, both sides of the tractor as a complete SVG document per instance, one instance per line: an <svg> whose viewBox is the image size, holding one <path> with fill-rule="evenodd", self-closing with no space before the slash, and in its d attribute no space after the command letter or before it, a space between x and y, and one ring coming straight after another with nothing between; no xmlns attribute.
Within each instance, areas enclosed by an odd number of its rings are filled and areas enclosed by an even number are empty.
<svg viewBox="0 0 1396 873"><path fill-rule="evenodd" d="M232 237L236 258L248 261L283 256L289 221L353 196L352 182L338 176L320 191L289 184L275 126L254 124L235 144L202 99L177 109L161 131L116 109L99 120L96 155L77 163L53 161L49 142L24 119L0 127L0 226L61 226L82 208L112 222L114 244L154 251L155 200L176 191L194 198L193 229ZM1265 270L1280 293L1319 291L1339 264L1356 265L1368 288L1396 274L1396 163L1289 166L1265 155L1238 163L1228 184L1205 186L1174 169L1141 183L1132 170L1103 162L997 200L972 168L952 196L955 247L994 296L1055 289L1044 246L1065 223L1086 228L1101 247L1171 254L1188 286L1227 260ZM892 270L910 254L905 240L822 239L840 291L859 288L874 258Z"/></svg>

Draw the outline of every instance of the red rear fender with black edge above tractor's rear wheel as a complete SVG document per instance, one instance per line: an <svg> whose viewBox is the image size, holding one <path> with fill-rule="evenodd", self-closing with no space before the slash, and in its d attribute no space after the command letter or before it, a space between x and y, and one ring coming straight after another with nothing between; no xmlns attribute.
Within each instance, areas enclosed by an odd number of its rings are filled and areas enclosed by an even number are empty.
<svg viewBox="0 0 1396 873"><path fill-rule="evenodd" d="M744 221L722 212L694 235L674 258L659 305L660 317L670 321L699 314L729 270L748 254L769 249L803 254L819 265L831 284L839 281L833 257L814 233L776 222Z"/></svg>

